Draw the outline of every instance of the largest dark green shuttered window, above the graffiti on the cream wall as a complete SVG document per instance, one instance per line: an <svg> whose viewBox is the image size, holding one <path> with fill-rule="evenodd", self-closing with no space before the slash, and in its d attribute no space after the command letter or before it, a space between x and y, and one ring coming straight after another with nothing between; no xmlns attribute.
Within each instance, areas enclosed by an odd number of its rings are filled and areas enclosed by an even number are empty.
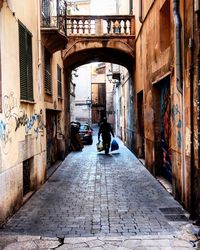
<svg viewBox="0 0 200 250"><path fill-rule="evenodd" d="M33 101L32 34L19 22L20 98Z"/></svg>

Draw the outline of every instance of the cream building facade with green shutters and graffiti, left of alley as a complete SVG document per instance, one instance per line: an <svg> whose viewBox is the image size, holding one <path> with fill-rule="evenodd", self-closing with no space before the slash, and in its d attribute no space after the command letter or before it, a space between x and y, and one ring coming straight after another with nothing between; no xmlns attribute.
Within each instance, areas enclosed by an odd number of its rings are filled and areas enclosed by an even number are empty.
<svg viewBox="0 0 200 250"><path fill-rule="evenodd" d="M63 62L47 42L42 3L0 3L0 224L65 151Z"/></svg>

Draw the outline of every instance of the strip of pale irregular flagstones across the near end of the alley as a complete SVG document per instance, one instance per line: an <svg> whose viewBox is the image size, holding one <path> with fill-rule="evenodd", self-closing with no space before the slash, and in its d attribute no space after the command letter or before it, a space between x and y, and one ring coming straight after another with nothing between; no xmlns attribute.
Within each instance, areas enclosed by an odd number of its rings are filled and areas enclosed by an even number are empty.
<svg viewBox="0 0 200 250"><path fill-rule="evenodd" d="M190 240L189 240L190 239ZM2 248L1 248L2 247ZM165 236L118 236L86 238L47 238L39 236L0 237L3 250L188 250L197 248L187 237Z"/></svg>

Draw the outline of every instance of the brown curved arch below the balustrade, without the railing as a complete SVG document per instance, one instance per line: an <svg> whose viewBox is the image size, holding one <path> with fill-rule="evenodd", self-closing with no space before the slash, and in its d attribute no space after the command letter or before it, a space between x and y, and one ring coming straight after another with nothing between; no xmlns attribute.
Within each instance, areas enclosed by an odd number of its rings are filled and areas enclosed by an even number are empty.
<svg viewBox="0 0 200 250"><path fill-rule="evenodd" d="M68 43L63 51L65 67L76 68L83 64L100 61L120 64L131 69L135 58L134 40L130 39L77 39Z"/></svg>

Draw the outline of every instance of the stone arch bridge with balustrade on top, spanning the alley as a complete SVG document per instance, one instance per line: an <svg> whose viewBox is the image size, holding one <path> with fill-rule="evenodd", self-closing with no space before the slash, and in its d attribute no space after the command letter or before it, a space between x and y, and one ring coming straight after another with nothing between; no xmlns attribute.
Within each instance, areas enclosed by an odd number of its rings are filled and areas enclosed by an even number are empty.
<svg viewBox="0 0 200 250"><path fill-rule="evenodd" d="M68 16L65 66L101 61L131 69L135 58L134 16Z"/></svg>

